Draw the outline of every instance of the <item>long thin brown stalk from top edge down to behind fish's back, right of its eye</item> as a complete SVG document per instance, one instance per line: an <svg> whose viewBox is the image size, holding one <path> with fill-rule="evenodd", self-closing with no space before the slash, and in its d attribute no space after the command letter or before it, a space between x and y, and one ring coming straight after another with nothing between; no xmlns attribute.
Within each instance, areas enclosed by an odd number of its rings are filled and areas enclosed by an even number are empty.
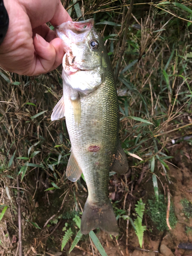
<svg viewBox="0 0 192 256"><path fill-rule="evenodd" d="M127 11L125 31L124 31L124 35L123 35L121 51L119 53L119 61L117 63L118 66L117 66L117 71L116 71L116 74L115 74L115 81L117 81L117 78L118 78L118 75L119 75L119 71L120 71L120 68L121 68L121 60L122 60L123 53L124 53L124 50L125 50L125 47L126 47L126 36L127 36L128 31L129 31L130 19L131 19L131 14L132 14L132 10L133 10L133 3L134 3L134 0L131 0L129 10Z"/></svg>

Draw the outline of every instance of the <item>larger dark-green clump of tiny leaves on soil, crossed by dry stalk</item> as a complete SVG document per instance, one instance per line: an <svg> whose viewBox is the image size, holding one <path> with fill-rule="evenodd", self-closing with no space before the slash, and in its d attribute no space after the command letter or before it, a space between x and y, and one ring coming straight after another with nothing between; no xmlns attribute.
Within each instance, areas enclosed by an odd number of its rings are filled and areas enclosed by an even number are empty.
<svg viewBox="0 0 192 256"><path fill-rule="evenodd" d="M152 223L159 231L168 230L166 224L166 210L167 202L164 200L163 195L159 195L159 202L154 198L152 200L148 199L148 210L147 215L151 218ZM177 223L177 218L175 216L173 205L170 205L169 211L169 224L170 227L174 228Z"/></svg>

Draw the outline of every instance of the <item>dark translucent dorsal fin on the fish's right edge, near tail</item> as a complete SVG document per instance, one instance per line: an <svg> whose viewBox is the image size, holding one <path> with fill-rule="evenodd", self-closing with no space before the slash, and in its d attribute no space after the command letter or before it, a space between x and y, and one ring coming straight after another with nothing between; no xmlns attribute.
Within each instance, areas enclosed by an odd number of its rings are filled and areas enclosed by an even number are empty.
<svg viewBox="0 0 192 256"><path fill-rule="evenodd" d="M125 174L129 169L129 165L127 163L126 155L121 147L120 141L118 142L117 152L114 158L115 159L110 170L118 174Z"/></svg>

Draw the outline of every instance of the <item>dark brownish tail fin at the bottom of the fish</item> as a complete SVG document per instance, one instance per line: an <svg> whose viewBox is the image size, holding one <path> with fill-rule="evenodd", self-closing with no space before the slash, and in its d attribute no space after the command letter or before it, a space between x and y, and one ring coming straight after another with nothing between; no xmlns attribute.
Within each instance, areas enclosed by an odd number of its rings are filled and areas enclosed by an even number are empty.
<svg viewBox="0 0 192 256"><path fill-rule="evenodd" d="M118 235L118 225L110 200L106 201L102 206L91 205L88 200L84 205L81 233L88 234L97 227L114 236Z"/></svg>

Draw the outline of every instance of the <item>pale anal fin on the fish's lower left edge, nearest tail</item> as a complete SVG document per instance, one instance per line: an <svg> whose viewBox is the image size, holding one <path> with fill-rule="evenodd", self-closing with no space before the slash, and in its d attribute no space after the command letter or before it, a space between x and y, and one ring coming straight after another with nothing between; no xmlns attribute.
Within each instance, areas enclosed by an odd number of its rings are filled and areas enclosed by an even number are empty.
<svg viewBox="0 0 192 256"><path fill-rule="evenodd" d="M81 174L82 174L82 170L79 167L72 151L71 156L69 158L68 166L66 169L66 176L69 180L75 182L80 178Z"/></svg>

